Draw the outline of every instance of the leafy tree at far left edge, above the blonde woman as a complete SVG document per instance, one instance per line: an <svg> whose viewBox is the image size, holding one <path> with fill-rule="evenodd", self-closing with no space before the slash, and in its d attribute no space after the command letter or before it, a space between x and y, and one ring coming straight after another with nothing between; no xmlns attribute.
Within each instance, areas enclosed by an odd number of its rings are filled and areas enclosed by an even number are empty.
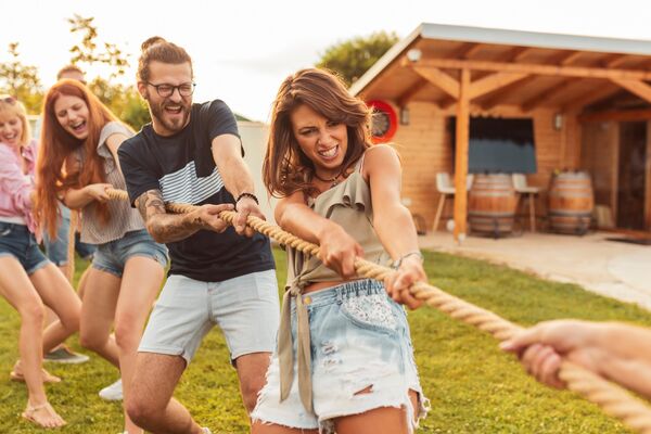
<svg viewBox="0 0 651 434"><path fill-rule="evenodd" d="M38 113L43 100L38 69L21 62L18 42L11 42L8 51L10 61L0 63L1 92L16 97L28 113Z"/></svg>

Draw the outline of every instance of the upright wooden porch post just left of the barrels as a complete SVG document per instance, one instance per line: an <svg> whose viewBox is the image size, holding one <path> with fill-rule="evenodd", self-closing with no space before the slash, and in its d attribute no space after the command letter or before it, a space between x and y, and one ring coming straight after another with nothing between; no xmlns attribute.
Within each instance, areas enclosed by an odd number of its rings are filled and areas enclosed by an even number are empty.
<svg viewBox="0 0 651 434"><path fill-rule="evenodd" d="M455 240L461 243L465 239L468 218L468 138L470 135L470 69L461 69L459 101L457 103L457 131L455 153Z"/></svg>

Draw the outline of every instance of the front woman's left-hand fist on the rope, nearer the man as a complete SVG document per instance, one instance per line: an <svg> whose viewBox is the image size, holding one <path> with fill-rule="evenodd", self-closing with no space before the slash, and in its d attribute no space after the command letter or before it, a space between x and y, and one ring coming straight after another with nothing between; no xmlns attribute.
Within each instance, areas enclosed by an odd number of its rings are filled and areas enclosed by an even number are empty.
<svg viewBox="0 0 651 434"><path fill-rule="evenodd" d="M319 259L344 279L352 279L355 258L363 257L363 248L339 225L329 225L319 235Z"/></svg>

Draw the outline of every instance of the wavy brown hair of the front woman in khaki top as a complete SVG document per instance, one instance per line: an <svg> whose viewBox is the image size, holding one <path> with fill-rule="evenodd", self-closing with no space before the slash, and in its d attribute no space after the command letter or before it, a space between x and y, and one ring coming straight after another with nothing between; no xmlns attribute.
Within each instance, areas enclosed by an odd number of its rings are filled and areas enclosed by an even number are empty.
<svg viewBox="0 0 651 434"><path fill-rule="evenodd" d="M296 191L305 194L315 191L311 186L315 165L298 146L290 118L302 104L330 120L346 125L348 150L342 173L370 146L371 111L363 101L350 97L343 80L327 71L298 71L280 85L271 113L263 180L267 191L277 197L289 196Z"/></svg>

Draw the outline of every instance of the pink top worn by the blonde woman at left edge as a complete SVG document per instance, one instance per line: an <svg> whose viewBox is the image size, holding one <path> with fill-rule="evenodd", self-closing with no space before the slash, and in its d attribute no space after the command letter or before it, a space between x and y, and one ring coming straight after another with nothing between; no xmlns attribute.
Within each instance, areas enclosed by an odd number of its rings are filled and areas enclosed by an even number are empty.
<svg viewBox="0 0 651 434"><path fill-rule="evenodd" d="M22 217L31 232L36 232L36 222L31 216L34 171L36 168L36 140L23 148L27 162L27 175L23 174L18 155L13 148L0 142L0 218Z"/></svg>

